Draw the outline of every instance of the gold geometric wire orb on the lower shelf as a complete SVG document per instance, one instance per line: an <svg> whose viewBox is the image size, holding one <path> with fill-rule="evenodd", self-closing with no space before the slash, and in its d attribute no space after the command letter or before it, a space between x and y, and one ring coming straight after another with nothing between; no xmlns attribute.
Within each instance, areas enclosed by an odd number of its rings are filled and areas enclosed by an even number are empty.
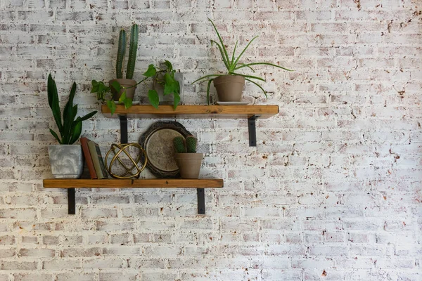
<svg viewBox="0 0 422 281"><path fill-rule="evenodd" d="M139 154L136 155L136 159L133 159L133 157L129 153L129 148L133 148L133 147L139 149ZM114 156L110 160L110 163L108 163L107 160L111 152L113 152ZM124 164L124 161L123 161L124 159L120 158L124 155L127 156L127 158L129 159L129 162L132 162L132 166L129 167L127 164ZM142 156L144 159L143 164L140 163ZM118 163L116 162L116 160ZM143 150L143 148L141 147L141 145L139 145L139 143L122 143L120 145L113 143L111 145L110 150L108 150L106 154L105 162L106 162L106 169L108 173L110 174L110 176L113 176L113 178L139 178L141 171L145 169L146 162L148 162L148 159L146 158L145 150ZM125 169L125 171L122 171L122 173L120 174L115 174L112 171L113 164L115 163L120 164L120 166L122 166Z"/></svg>

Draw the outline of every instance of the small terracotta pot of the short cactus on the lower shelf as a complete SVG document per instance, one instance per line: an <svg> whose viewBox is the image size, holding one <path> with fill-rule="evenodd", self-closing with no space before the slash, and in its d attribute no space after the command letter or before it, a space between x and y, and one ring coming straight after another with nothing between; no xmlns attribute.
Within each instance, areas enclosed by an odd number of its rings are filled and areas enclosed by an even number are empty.
<svg viewBox="0 0 422 281"><path fill-rule="evenodd" d="M203 153L174 153L181 178L198 178Z"/></svg>

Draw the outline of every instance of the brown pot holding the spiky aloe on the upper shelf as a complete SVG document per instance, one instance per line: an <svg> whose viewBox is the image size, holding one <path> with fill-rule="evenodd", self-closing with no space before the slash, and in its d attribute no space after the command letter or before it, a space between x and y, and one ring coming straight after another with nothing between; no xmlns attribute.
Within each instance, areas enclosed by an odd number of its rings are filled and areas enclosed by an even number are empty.
<svg viewBox="0 0 422 281"><path fill-rule="evenodd" d="M245 78L240 75L222 75L214 79L219 101L241 101Z"/></svg>

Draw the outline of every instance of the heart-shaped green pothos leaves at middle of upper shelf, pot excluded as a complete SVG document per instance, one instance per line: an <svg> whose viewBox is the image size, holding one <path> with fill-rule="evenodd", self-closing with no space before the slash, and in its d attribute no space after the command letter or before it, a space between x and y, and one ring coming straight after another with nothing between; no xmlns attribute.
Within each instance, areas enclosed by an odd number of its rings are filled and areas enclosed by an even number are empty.
<svg viewBox="0 0 422 281"><path fill-rule="evenodd" d="M173 69L172 63L165 60L164 68L155 67L154 65L149 65L148 70L143 73L146 77L153 77L158 84L164 87L164 96L173 94L174 96L174 109L177 108L177 105L180 102L180 84L174 78L176 70ZM153 107L158 108L158 103L160 101L157 91L151 89L148 91L148 100L150 101Z"/></svg>

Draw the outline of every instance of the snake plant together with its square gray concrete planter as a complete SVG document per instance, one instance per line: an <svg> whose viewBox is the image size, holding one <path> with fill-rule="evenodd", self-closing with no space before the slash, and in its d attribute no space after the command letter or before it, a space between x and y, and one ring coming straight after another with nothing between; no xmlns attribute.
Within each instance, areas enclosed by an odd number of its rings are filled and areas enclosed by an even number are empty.
<svg viewBox="0 0 422 281"><path fill-rule="evenodd" d="M59 145L49 145L49 158L51 172L54 178L80 178L84 168L81 145L74 145L82 132L82 122L93 117L93 111L84 117L76 117L77 105L73 105L76 83L73 82L68 103L63 110L63 121L60 112L56 81L49 74L47 81L47 93L49 106L56 121L58 133L50 129L50 133L56 138ZM60 137L59 137L60 134Z"/></svg>

